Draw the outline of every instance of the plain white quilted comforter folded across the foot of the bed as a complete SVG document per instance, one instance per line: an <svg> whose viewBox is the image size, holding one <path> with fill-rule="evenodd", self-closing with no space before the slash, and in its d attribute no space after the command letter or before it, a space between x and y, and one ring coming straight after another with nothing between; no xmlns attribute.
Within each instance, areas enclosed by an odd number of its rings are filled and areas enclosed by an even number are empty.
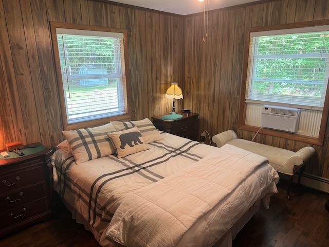
<svg viewBox="0 0 329 247"><path fill-rule="evenodd" d="M134 247L212 246L257 199L277 192L278 178L266 158L225 145L126 196L106 237Z"/></svg>

